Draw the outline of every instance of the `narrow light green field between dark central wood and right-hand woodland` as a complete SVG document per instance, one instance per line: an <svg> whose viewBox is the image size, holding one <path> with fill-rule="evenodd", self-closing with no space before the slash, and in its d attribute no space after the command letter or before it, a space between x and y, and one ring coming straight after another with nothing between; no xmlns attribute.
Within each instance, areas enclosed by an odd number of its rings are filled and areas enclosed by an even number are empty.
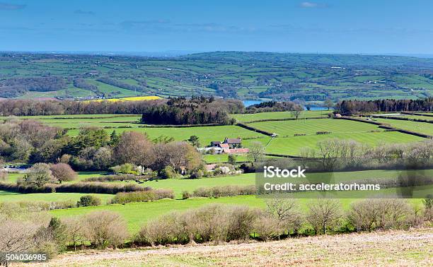
<svg viewBox="0 0 433 267"><path fill-rule="evenodd" d="M312 117L323 117L328 118L328 113L332 111L326 110L311 110L301 112L299 116L300 119L304 118L312 118ZM250 121L259 121L262 119L294 119L291 112L261 112L261 113L253 113L253 114L231 114L232 118L235 118L239 122L250 122Z"/></svg>

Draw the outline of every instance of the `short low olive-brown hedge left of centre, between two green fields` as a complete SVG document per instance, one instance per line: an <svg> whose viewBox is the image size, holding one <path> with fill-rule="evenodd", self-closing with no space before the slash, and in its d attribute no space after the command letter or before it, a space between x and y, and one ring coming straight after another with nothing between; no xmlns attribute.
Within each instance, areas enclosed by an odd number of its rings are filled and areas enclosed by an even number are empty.
<svg viewBox="0 0 433 267"><path fill-rule="evenodd" d="M146 202L162 198L174 199L173 190L156 189L149 191L120 192L112 199L112 203Z"/></svg>

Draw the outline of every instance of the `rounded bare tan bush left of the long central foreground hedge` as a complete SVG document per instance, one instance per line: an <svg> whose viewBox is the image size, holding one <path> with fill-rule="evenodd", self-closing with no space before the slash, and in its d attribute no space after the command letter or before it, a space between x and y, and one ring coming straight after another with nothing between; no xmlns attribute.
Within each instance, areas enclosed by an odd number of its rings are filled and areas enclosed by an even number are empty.
<svg viewBox="0 0 433 267"><path fill-rule="evenodd" d="M86 238L93 247L117 248L129 237L127 225L122 216L108 210L88 213L84 218Z"/></svg>

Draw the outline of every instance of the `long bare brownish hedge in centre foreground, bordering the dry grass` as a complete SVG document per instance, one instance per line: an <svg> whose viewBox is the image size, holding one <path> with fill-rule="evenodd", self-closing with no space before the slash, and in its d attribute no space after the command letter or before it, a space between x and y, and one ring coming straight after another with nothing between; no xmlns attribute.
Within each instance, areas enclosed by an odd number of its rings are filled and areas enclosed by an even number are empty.
<svg viewBox="0 0 433 267"><path fill-rule="evenodd" d="M139 244L229 242L247 239L258 210L213 204L184 213L169 213L147 223L135 238Z"/></svg>

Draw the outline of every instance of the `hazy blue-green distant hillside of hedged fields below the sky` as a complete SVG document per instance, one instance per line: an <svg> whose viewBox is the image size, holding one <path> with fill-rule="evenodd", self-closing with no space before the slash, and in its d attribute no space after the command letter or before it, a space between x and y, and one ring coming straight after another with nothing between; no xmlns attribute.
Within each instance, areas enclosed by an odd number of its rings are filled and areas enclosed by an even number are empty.
<svg viewBox="0 0 433 267"><path fill-rule="evenodd" d="M300 100L433 95L433 59L209 52L180 57L0 53L0 97L216 95Z"/></svg>

